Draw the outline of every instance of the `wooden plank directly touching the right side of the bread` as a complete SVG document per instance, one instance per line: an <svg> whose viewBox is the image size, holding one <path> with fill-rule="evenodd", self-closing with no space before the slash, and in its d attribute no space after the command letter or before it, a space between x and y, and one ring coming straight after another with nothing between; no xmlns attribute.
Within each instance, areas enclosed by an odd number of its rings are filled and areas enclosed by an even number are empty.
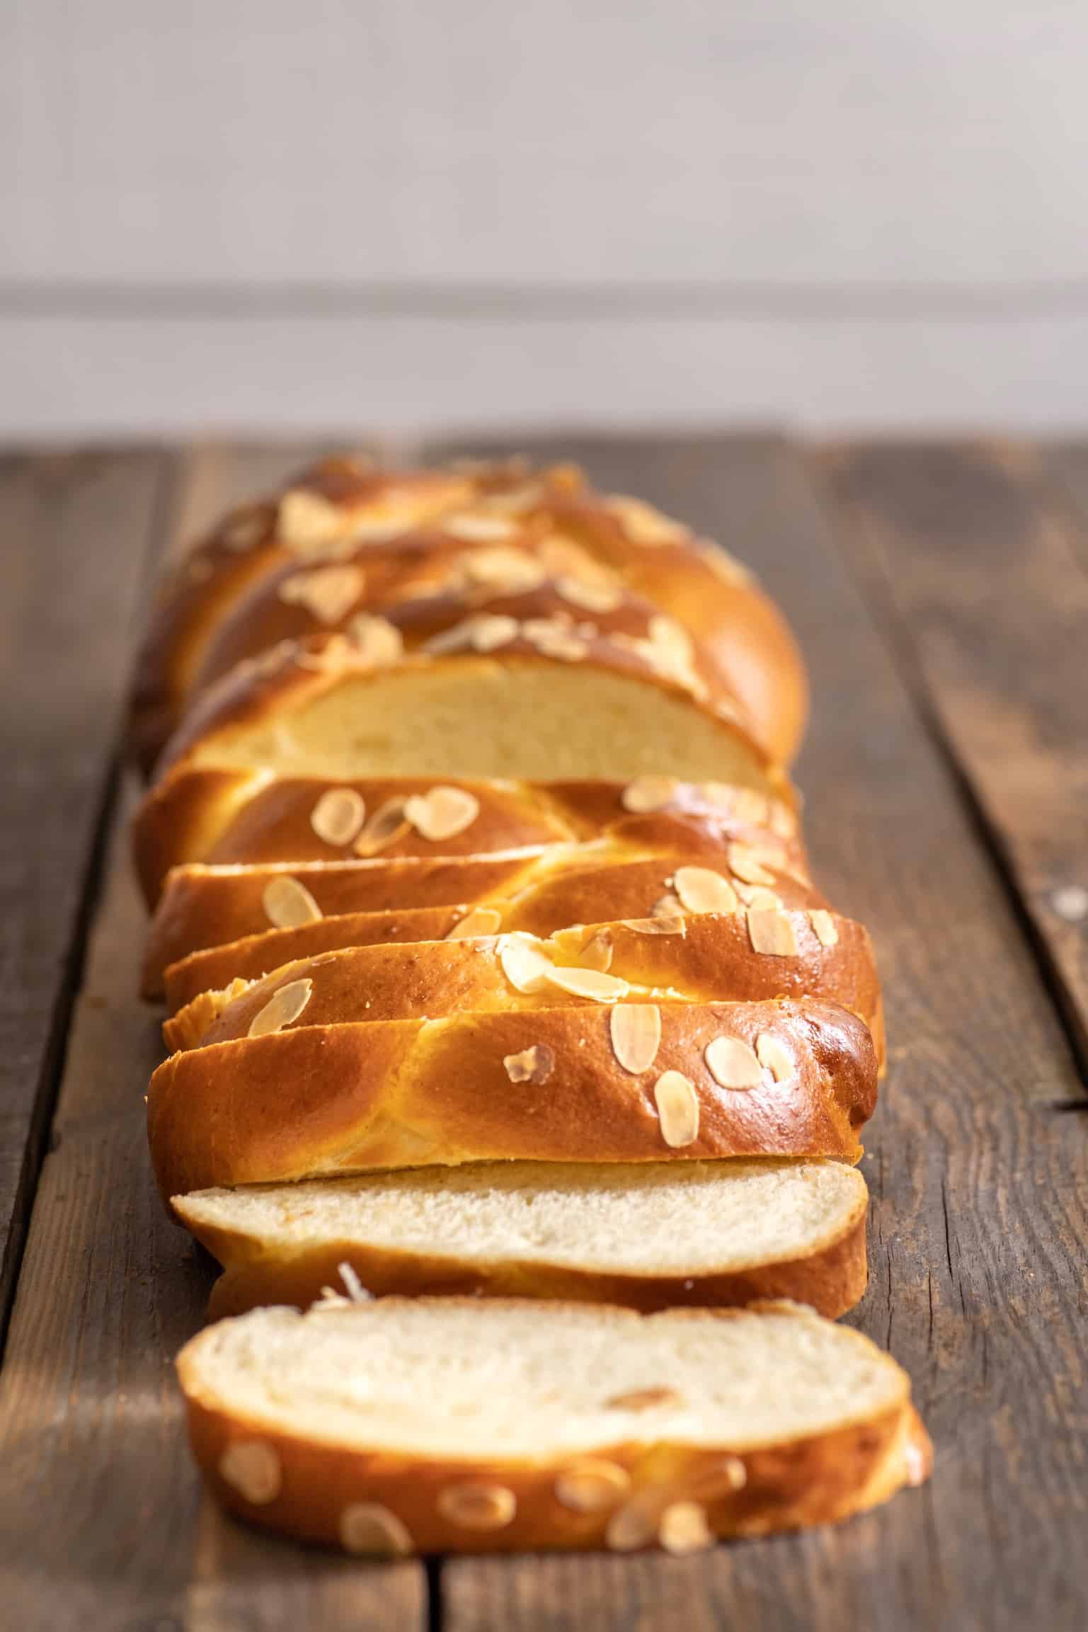
<svg viewBox="0 0 1088 1632"><path fill-rule="evenodd" d="M873 929L892 1041L866 1139L871 1289L851 1319L910 1371L936 1470L845 1526L700 1559L447 1562L445 1632L1073 1632L1088 1619L1088 1147L1060 1113L1080 1085L1005 883L785 444L564 450L752 561L801 635L809 840L832 896Z"/></svg>

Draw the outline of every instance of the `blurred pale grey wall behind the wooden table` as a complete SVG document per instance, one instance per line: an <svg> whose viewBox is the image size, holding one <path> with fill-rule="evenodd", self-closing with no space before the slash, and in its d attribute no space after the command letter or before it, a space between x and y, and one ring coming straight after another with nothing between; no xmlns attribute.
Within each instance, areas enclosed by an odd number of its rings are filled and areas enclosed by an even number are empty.
<svg viewBox="0 0 1088 1632"><path fill-rule="evenodd" d="M0 436L1088 423L1088 5L0 0Z"/></svg>

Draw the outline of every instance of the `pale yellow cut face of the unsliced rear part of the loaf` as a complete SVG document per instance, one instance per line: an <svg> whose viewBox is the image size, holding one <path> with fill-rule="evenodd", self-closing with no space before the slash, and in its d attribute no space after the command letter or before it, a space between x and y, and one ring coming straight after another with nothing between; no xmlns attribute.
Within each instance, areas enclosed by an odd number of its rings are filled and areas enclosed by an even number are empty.
<svg viewBox="0 0 1088 1632"><path fill-rule="evenodd" d="M375 664L333 645L271 659L235 669L196 703L163 769L783 787L736 720L605 641L569 661L509 646Z"/></svg>

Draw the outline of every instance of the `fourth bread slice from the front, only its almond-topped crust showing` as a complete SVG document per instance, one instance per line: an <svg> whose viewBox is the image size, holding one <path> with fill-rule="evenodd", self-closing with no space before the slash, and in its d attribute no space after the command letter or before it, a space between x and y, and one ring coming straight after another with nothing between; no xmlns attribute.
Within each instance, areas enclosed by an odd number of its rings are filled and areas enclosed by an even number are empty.
<svg viewBox="0 0 1088 1632"><path fill-rule="evenodd" d="M638 1005L639 1018L656 1022L659 1005L789 996L850 1009L874 1033L879 1062L881 989L869 937L861 924L837 914L817 922L824 940L807 912L762 907L586 924L546 940L484 934L349 945L254 982L206 991L166 1022L163 1036L170 1049L245 1038L251 1027L261 1028L258 1015L282 1000L277 994L299 982L307 982L307 1000L295 1028L602 1002Z"/></svg>

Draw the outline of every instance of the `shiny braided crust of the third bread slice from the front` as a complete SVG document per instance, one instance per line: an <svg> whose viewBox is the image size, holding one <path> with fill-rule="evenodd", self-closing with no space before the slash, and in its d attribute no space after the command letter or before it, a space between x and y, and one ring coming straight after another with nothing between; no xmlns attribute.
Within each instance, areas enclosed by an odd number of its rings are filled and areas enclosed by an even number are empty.
<svg viewBox="0 0 1088 1632"><path fill-rule="evenodd" d="M705 1059L716 1038L775 1038L793 1071L724 1089ZM506 1061L537 1049L543 1080ZM767 1056L765 1056L767 1058ZM695 1138L666 1142L656 1087L680 1072L698 1100ZM829 1155L856 1160L876 1103L876 1053L861 1020L822 1002L661 1007L652 1067L615 1056L594 1004L445 1020L281 1030L173 1054L148 1092L163 1196L214 1185L318 1178L470 1160L646 1162L669 1157Z"/></svg>

